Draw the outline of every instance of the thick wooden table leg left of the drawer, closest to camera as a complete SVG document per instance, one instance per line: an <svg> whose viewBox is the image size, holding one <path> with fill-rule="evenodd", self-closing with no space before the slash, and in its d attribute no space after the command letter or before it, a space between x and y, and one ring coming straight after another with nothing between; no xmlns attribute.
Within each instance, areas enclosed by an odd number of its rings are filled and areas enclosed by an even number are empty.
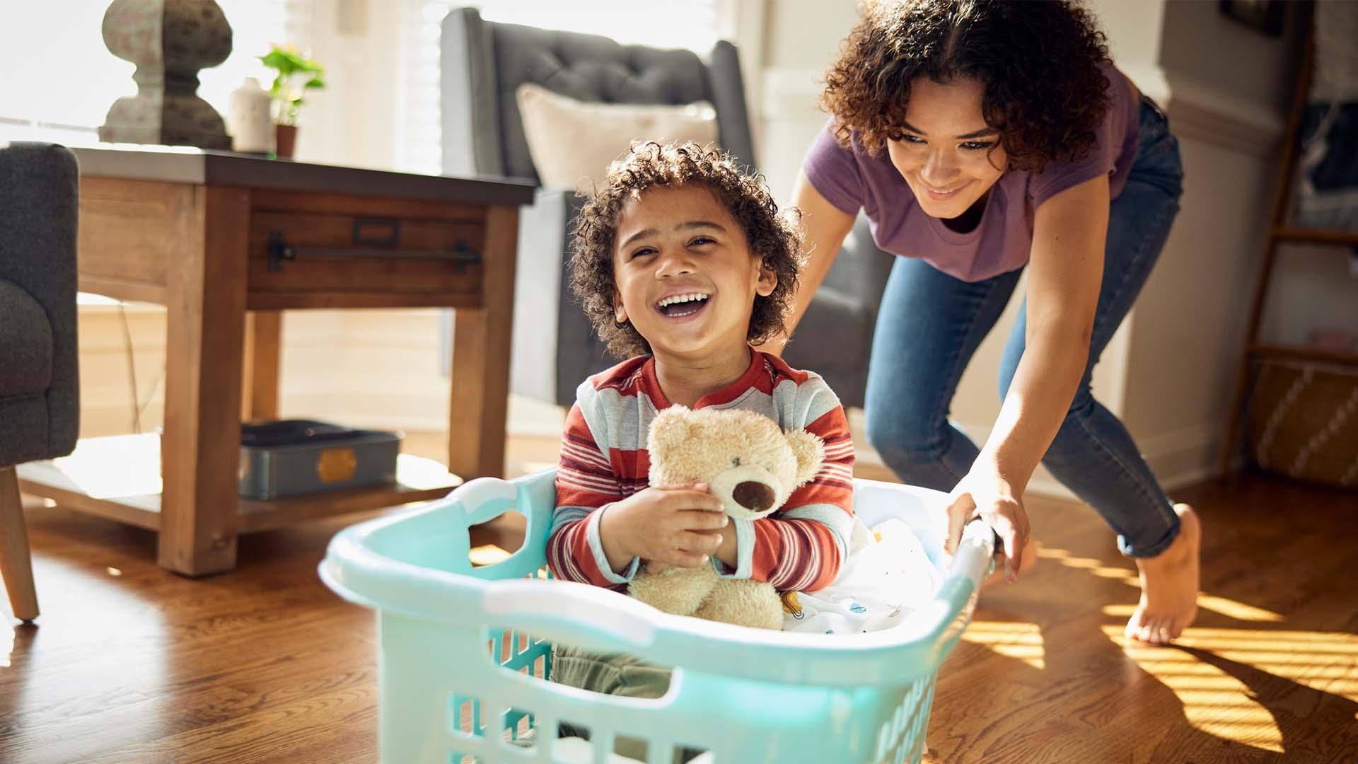
<svg viewBox="0 0 1358 764"><path fill-rule="evenodd" d="M236 564L250 192L198 186L167 284L160 566Z"/></svg>

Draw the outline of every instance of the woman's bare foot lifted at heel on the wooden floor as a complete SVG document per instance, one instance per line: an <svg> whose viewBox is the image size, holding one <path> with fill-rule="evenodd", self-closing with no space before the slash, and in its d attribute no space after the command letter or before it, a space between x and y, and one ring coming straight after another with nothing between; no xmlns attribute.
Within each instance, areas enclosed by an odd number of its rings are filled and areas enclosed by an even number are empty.
<svg viewBox="0 0 1358 764"><path fill-rule="evenodd" d="M1138 557L1141 602L1126 635L1152 644L1169 644L1198 616L1198 549L1202 523L1188 504L1175 504L1179 536L1154 557Z"/></svg>

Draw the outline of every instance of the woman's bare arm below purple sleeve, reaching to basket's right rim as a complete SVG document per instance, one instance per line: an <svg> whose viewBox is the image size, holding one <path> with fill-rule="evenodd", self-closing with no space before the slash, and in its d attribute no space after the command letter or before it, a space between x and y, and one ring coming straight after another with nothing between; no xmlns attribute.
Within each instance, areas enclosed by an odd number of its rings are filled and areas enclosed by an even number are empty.
<svg viewBox="0 0 1358 764"><path fill-rule="evenodd" d="M1023 493L1057 436L1089 363L1108 235L1108 178L1100 175L1044 201L1033 216L1025 348L990 438L953 492L948 548L980 514L1005 544L1017 574L1028 540Z"/></svg>

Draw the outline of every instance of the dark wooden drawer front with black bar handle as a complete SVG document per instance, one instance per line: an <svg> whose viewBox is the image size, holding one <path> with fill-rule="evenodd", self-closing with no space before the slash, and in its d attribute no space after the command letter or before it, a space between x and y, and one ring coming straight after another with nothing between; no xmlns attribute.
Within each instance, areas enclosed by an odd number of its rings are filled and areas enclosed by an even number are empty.
<svg viewBox="0 0 1358 764"><path fill-rule="evenodd" d="M479 222L314 212L250 215L251 295L424 295L422 305L479 302Z"/></svg>

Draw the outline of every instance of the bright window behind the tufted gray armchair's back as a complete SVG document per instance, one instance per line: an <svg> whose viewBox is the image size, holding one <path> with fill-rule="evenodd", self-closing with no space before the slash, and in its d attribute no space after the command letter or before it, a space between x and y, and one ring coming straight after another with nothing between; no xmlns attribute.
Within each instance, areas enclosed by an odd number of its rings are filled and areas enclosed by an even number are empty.
<svg viewBox="0 0 1358 764"><path fill-rule="evenodd" d="M449 8L477 5L493 22L585 31L619 42L690 48L706 53L735 33L736 0L405 0L395 163L401 170L440 174L443 129L439 113L439 37ZM663 11L661 11L663 8ZM664 23L657 16L664 14Z"/></svg>

